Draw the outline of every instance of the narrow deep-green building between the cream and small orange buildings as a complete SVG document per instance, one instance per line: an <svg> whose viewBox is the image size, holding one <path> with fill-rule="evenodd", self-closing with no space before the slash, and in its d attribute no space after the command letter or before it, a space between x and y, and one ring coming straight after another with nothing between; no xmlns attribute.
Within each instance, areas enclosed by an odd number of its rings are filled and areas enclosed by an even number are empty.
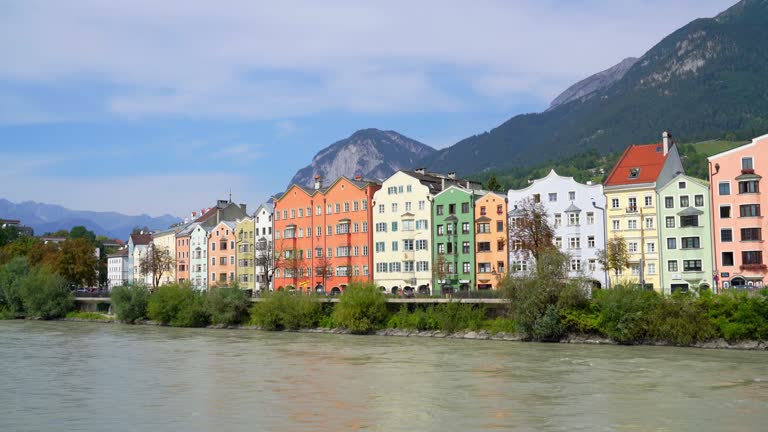
<svg viewBox="0 0 768 432"><path fill-rule="evenodd" d="M434 293L469 291L475 281L475 198L477 192L450 186L432 205Z"/></svg>

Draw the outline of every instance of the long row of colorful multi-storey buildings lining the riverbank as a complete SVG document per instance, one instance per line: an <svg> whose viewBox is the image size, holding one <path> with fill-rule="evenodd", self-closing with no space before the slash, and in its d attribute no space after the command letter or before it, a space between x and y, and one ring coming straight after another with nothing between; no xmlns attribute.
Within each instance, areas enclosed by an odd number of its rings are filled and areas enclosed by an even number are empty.
<svg viewBox="0 0 768 432"><path fill-rule="evenodd" d="M763 287L761 208L768 203L760 173L768 170L768 135L709 164L709 182L686 175L665 132L660 143L629 146L603 184L552 171L502 195L424 169L384 181L341 177L325 185L316 177L314 187L291 185L252 214L219 201L188 223L132 235L121 255L110 257L110 280L113 259L115 284L147 277L137 263L148 248L161 247L176 260L162 283L200 289L237 282L254 290L341 292L354 280L387 292L494 289L505 274L534 268L513 235L519 205L530 199L546 209L571 276L595 287ZM615 274L600 265L598 251L619 237L629 263Z"/></svg>

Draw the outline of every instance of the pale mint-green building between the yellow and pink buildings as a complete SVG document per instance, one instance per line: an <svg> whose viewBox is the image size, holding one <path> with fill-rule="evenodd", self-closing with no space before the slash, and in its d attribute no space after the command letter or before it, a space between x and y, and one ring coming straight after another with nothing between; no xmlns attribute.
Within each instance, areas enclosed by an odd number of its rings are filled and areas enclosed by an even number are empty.
<svg viewBox="0 0 768 432"><path fill-rule="evenodd" d="M658 194L663 292L710 289L713 265L709 184L679 174Z"/></svg>

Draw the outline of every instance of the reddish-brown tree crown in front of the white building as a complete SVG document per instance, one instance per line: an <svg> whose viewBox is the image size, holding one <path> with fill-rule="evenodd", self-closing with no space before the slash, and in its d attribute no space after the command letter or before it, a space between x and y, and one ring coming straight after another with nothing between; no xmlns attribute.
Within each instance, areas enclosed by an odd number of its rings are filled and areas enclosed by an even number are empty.
<svg viewBox="0 0 768 432"><path fill-rule="evenodd" d="M549 222L546 208L532 198L525 198L512 212L509 224L512 240L519 242L520 250L538 262L544 251L555 247L555 229Z"/></svg>

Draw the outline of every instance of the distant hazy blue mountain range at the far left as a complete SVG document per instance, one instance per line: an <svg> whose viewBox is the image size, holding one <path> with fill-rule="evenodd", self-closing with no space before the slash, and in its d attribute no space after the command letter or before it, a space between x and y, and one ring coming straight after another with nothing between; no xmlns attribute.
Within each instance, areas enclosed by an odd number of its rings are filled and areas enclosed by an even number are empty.
<svg viewBox="0 0 768 432"><path fill-rule="evenodd" d="M70 230L74 226L82 225L96 235L117 239L128 238L136 226L160 230L181 221L180 218L170 215L128 216L115 212L70 210L59 205L34 201L14 204L5 199L0 199L0 218L19 219L23 225L32 227L36 235L62 229Z"/></svg>

